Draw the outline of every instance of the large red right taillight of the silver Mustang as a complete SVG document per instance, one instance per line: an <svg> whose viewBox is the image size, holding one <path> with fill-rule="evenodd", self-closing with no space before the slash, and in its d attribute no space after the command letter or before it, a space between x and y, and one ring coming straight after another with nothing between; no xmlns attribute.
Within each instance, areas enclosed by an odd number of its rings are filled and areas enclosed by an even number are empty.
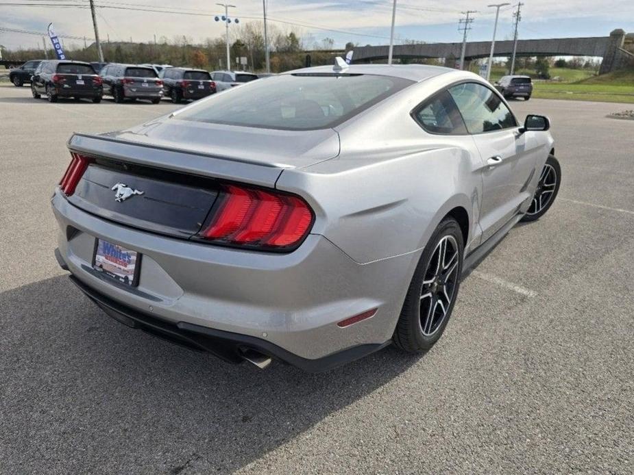
<svg viewBox="0 0 634 475"><path fill-rule="evenodd" d="M199 236L218 244L290 250L313 224L313 211L302 198L274 190L223 185L214 208Z"/></svg>

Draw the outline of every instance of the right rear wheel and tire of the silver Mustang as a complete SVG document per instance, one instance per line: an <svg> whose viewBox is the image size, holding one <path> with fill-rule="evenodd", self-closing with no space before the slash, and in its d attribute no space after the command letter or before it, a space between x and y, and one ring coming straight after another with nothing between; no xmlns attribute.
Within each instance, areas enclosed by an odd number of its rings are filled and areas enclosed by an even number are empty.
<svg viewBox="0 0 634 475"><path fill-rule="evenodd" d="M458 296L463 254L460 226L446 218L432 234L414 272L394 331L395 346L406 352L427 351L442 336ZM441 266L440 256L444 256Z"/></svg>

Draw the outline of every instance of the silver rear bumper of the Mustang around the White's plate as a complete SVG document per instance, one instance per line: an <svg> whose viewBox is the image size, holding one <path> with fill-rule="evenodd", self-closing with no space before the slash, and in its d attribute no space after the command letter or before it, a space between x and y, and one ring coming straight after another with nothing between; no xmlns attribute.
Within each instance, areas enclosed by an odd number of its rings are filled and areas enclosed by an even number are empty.
<svg viewBox="0 0 634 475"><path fill-rule="evenodd" d="M58 191L52 203L61 228L58 260L120 313L212 337L238 335L232 339L308 370L334 363L303 360L343 363L391 340L419 257L361 265L319 235L289 254L239 251L123 227L78 209ZM95 237L143 255L138 287L93 270ZM369 309L377 309L372 318L337 326Z"/></svg>

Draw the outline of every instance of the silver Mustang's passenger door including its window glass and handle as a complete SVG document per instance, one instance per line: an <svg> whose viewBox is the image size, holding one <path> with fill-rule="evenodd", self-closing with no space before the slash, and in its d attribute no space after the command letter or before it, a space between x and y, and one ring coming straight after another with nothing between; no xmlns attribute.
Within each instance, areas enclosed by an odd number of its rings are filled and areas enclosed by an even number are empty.
<svg viewBox="0 0 634 475"><path fill-rule="evenodd" d="M539 148L520 132L515 116L488 86L465 82L449 92L465 121L483 161L480 227L483 241L491 237L531 198Z"/></svg>

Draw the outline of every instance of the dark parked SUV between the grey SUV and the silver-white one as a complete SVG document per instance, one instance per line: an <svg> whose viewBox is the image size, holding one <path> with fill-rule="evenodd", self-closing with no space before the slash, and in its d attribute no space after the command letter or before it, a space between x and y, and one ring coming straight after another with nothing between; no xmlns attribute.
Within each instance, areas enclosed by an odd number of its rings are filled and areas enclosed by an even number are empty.
<svg viewBox="0 0 634 475"><path fill-rule="evenodd" d="M201 99L216 92L216 83L202 69L165 68L159 77L163 80L163 94L175 104L183 99Z"/></svg>

